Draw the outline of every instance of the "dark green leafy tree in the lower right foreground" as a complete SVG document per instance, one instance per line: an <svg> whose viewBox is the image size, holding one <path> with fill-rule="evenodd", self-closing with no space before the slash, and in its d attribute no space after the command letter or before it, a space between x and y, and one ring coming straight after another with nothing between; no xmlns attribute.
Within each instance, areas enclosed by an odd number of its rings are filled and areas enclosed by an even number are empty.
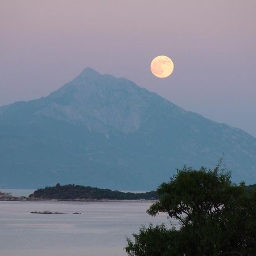
<svg viewBox="0 0 256 256"><path fill-rule="evenodd" d="M133 256L256 255L256 190L233 184L220 166L184 167L157 190L148 213L165 212L179 229L142 228L125 248Z"/></svg>

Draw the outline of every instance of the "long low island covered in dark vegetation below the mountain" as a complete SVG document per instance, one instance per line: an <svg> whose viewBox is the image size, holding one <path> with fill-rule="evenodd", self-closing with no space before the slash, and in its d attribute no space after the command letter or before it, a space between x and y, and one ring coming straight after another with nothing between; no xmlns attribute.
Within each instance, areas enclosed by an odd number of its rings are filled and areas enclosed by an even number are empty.
<svg viewBox="0 0 256 256"><path fill-rule="evenodd" d="M131 193L82 185L60 185L37 189L28 200L157 200L155 191Z"/></svg>

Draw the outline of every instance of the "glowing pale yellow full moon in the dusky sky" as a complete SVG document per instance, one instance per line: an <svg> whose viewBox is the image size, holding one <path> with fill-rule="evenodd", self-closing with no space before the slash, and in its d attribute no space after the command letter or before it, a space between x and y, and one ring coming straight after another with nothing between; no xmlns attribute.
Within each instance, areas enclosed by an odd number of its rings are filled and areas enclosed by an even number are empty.
<svg viewBox="0 0 256 256"><path fill-rule="evenodd" d="M165 78L174 71L174 63L169 57L160 55L152 60L150 69L156 77Z"/></svg>

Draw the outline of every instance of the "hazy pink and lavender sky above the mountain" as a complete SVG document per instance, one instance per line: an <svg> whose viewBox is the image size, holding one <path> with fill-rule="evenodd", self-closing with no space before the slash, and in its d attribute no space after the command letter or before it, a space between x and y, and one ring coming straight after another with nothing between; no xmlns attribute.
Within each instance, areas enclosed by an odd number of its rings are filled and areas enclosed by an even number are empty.
<svg viewBox="0 0 256 256"><path fill-rule="evenodd" d="M255 14L255 0L0 0L0 105L91 67L256 137ZM174 61L167 79L157 55Z"/></svg>

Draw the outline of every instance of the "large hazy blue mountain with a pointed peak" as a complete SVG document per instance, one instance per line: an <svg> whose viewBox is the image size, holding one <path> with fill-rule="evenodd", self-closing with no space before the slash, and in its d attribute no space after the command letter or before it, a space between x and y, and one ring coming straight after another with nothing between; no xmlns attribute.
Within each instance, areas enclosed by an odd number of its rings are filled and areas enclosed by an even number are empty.
<svg viewBox="0 0 256 256"><path fill-rule="evenodd" d="M47 97L0 108L0 187L155 189L184 164L256 183L256 139L127 79L86 68Z"/></svg>

